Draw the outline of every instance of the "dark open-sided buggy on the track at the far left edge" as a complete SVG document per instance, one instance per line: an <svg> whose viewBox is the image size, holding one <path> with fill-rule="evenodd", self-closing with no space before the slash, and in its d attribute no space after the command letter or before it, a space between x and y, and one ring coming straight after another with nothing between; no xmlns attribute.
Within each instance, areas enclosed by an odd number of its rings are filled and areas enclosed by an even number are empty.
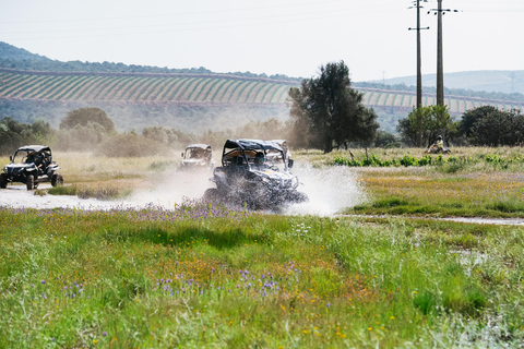
<svg viewBox="0 0 524 349"><path fill-rule="evenodd" d="M52 186L63 184L63 178L58 172L60 168L52 160L51 149L44 145L25 145L9 157L11 164L0 173L0 188L7 188L9 182L21 182L27 190L36 189L38 183L51 182Z"/></svg>

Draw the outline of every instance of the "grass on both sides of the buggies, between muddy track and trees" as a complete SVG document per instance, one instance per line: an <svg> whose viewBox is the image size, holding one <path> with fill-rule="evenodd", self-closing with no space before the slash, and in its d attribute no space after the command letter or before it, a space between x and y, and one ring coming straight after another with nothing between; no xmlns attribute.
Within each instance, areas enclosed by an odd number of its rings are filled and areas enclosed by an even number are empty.
<svg viewBox="0 0 524 349"><path fill-rule="evenodd" d="M76 195L81 198L124 198L135 190L156 185L158 178L177 171L179 151L166 156L108 158L87 153L55 153L66 185L39 189L38 195ZM457 147L453 155L432 155L424 166L402 165L402 159L427 159L420 148L294 151L296 164L346 166L340 159L366 163L380 159L389 167L370 164L354 167L368 202L343 209L357 215L408 215L427 217L524 216L524 161L521 148ZM221 149L213 158L219 159ZM438 160L441 158L441 160ZM338 159L338 160L337 160ZM453 160L450 160L453 159ZM8 164L8 158L0 161ZM407 164L407 163L405 163Z"/></svg>

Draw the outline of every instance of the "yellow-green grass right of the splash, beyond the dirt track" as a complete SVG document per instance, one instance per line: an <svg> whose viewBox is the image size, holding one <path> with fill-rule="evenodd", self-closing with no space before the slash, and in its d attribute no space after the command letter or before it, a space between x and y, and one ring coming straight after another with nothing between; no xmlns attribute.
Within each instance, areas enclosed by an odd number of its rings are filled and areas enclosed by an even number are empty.
<svg viewBox="0 0 524 349"><path fill-rule="evenodd" d="M431 160L420 148L330 154L303 151L294 155L317 166L349 166L352 155L355 163L369 164L354 168L370 198L362 205L347 207L346 214L510 218L524 216L521 149L457 147L453 155L432 155ZM379 165L377 159L389 166ZM424 165L418 159L424 159Z"/></svg>

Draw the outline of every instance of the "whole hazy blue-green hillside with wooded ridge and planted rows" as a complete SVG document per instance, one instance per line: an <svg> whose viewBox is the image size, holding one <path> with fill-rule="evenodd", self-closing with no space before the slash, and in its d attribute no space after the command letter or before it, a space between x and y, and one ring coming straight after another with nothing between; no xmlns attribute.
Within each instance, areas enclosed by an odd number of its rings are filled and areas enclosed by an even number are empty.
<svg viewBox="0 0 524 349"><path fill-rule="evenodd" d="M285 120L287 92L299 83L300 79L285 75L216 74L204 68L63 63L0 43L0 117L23 122L44 119L53 127L69 110L86 106L108 111L121 131L162 125L199 132L252 120ZM354 88L364 94L364 104L377 111L381 128L390 132L416 104L413 86L355 83ZM485 105L524 109L520 94L483 96L446 89L445 100L455 117ZM422 104L434 103L434 91L426 88Z"/></svg>

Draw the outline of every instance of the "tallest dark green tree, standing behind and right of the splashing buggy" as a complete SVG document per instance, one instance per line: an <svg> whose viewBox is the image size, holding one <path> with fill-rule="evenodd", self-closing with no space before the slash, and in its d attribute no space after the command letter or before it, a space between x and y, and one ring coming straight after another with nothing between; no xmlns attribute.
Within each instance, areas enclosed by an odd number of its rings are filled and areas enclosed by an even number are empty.
<svg viewBox="0 0 524 349"><path fill-rule="evenodd" d="M320 68L320 76L303 80L288 93L296 132L307 143L330 153L349 142L374 139L379 124L373 109L362 105L362 94L350 87L344 61Z"/></svg>

